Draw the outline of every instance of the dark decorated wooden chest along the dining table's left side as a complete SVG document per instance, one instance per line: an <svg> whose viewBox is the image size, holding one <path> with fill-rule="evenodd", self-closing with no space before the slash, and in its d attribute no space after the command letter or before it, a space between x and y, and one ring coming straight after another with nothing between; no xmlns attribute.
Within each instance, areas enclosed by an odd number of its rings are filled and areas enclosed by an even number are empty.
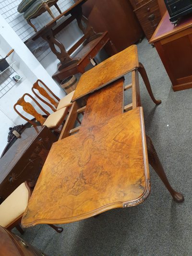
<svg viewBox="0 0 192 256"><path fill-rule="evenodd" d="M48 152L57 137L47 126L27 128L0 159L0 201L21 183L36 183Z"/></svg>

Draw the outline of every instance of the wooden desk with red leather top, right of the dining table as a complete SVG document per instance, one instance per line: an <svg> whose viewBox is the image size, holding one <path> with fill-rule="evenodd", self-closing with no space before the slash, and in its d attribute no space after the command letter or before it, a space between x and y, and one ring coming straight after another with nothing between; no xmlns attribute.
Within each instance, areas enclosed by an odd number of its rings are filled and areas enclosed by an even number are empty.
<svg viewBox="0 0 192 256"><path fill-rule="evenodd" d="M174 91L192 88L192 15L174 26L168 12L150 40L163 62Z"/></svg>

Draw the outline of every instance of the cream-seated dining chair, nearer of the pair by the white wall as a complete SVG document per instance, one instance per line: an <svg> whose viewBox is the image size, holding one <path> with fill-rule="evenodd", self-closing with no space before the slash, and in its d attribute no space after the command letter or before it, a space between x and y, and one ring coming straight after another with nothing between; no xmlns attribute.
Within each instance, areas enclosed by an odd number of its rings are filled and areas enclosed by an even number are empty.
<svg viewBox="0 0 192 256"><path fill-rule="evenodd" d="M40 113L38 113L36 111L36 109L34 108L34 106L30 103L25 101L24 97L28 96L29 98L31 98L35 104L46 114L47 117L45 117L45 115L42 115ZM60 125L62 124L62 122L64 122L65 117L68 114L68 108L61 108L53 113L49 113L47 110L45 110L37 101L35 98L33 98L30 94L25 93L13 106L13 109L17 112L18 115L20 115L24 120L26 120L27 122L31 123L34 126L37 126L36 122L31 121L30 119L24 117L24 115L22 115L17 109L16 106L20 105L23 107L23 110L25 112L27 112L28 114L34 116L36 118L36 121L40 122L41 125L46 125L49 129L51 130L55 130L58 129L60 127Z"/></svg>

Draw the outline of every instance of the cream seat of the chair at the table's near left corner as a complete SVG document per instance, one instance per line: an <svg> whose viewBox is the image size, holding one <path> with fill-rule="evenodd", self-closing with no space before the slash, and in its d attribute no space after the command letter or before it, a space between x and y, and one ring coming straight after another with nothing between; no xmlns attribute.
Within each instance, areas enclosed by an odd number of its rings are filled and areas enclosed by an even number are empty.
<svg viewBox="0 0 192 256"><path fill-rule="evenodd" d="M0 226L8 228L13 222L20 219L24 214L29 198L29 190L25 183L22 183L0 204Z"/></svg>

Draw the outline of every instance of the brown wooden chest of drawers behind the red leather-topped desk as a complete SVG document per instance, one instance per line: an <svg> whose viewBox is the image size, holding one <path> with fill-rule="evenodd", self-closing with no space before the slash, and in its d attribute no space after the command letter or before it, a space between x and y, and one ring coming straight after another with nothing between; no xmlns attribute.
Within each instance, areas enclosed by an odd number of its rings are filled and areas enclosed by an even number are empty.
<svg viewBox="0 0 192 256"><path fill-rule="evenodd" d="M144 30L148 41L152 37L157 25L161 20L161 13L157 0L130 0L133 12Z"/></svg>

